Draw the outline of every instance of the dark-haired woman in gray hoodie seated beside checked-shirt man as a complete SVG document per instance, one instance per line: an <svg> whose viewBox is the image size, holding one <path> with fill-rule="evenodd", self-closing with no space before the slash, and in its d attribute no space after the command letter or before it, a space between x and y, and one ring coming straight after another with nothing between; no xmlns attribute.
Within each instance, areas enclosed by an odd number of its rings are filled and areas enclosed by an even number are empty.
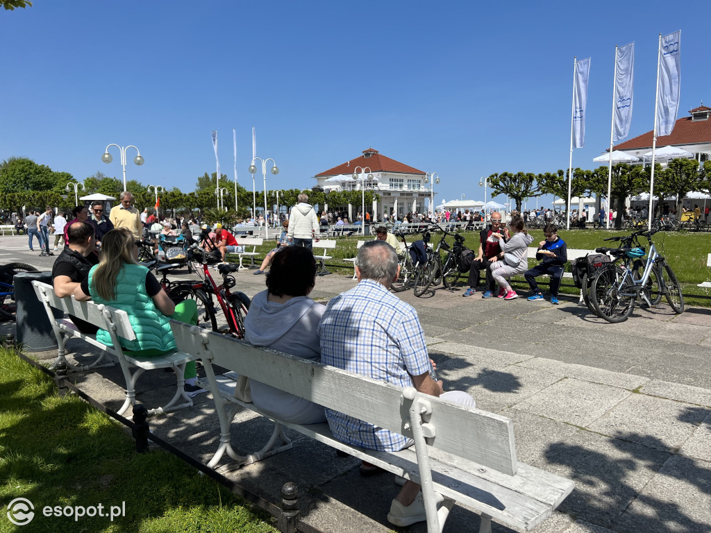
<svg viewBox="0 0 711 533"><path fill-rule="evenodd" d="M252 298L245 318L245 340L312 361L321 360L317 329L326 307L309 298L316 284L311 250L289 246L272 258L267 290ZM307 399L250 379L252 403L267 415L294 424L326 421L324 408Z"/></svg>

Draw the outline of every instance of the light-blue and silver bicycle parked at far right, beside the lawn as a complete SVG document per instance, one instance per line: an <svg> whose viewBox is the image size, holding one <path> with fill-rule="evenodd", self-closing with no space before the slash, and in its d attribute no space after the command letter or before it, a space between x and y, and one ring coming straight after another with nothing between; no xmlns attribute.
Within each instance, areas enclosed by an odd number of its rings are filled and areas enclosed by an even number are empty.
<svg viewBox="0 0 711 533"><path fill-rule="evenodd" d="M636 299L648 306L653 306L665 296L673 311L677 314L684 311L684 296L681 286L676 279L674 271L666 259L658 254L652 242L652 231L636 232L631 238L643 236L648 239L649 252L646 260L642 261L645 250L642 247L621 247L615 252L619 258L626 257L631 260L627 264L613 262L610 266L600 269L592 279L590 298L599 316L608 322L619 323L626 321L634 310ZM597 252L606 249L596 249ZM607 249L609 251L609 249ZM639 268L643 272L639 274ZM635 274L635 271L637 274ZM656 280L655 280L656 279Z"/></svg>

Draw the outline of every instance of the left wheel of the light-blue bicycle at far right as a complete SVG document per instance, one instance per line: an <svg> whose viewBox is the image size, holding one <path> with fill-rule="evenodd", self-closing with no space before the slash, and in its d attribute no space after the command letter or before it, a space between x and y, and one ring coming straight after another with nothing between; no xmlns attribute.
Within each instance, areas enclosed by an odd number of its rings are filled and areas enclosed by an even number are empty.
<svg viewBox="0 0 711 533"><path fill-rule="evenodd" d="M624 322L634 310L634 286L617 267L599 271L592 279L590 298L598 316L611 323Z"/></svg>

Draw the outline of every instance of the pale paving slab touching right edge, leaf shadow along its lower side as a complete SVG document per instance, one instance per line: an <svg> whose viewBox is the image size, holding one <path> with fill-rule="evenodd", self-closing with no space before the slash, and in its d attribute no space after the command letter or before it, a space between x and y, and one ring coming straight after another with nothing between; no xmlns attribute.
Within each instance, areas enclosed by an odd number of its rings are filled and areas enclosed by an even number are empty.
<svg viewBox="0 0 711 533"><path fill-rule="evenodd" d="M631 394L587 427L657 450L676 451L710 412L668 399Z"/></svg>

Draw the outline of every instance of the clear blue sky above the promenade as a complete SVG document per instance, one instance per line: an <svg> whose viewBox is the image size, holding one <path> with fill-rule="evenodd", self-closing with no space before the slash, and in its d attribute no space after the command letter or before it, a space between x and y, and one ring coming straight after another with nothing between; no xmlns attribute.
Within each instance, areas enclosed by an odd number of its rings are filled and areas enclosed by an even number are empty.
<svg viewBox="0 0 711 533"><path fill-rule="evenodd" d="M682 30L679 117L711 104L708 2L34 0L0 12L0 160L32 158L83 179L121 178L109 143L145 157L128 179L193 190L220 166L267 188L373 146L437 171L436 203L481 200L479 177L567 168L573 56L592 56L586 148L609 145L614 46L636 41L631 138L654 119L658 33ZM261 182L261 176L260 176ZM261 190L257 184L257 190ZM498 198L499 201L503 197ZM550 201L550 199L548 199Z"/></svg>

